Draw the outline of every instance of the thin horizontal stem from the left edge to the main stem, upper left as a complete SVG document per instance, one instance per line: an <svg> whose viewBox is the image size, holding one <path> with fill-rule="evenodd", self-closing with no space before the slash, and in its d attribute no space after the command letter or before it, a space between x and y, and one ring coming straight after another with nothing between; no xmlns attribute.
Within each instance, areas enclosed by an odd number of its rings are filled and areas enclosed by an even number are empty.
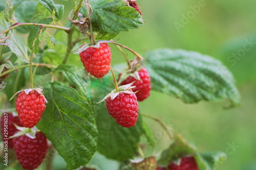
<svg viewBox="0 0 256 170"><path fill-rule="evenodd" d="M16 22L9 29L1 32L0 35L8 33L10 30L15 29L20 26L43 26L45 28L54 28L54 29L64 30L67 33L70 33L70 30L71 30L70 28L67 28L67 27L53 26L53 25L47 25L47 24L42 24L42 23L19 23L19 22Z"/></svg>

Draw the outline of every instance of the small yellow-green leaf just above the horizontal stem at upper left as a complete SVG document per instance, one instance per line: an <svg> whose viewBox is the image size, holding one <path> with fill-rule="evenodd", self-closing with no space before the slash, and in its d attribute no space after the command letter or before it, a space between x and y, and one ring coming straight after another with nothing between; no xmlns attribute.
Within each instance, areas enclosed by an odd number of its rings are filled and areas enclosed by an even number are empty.
<svg viewBox="0 0 256 170"><path fill-rule="evenodd" d="M47 18L51 13L41 3L38 3L35 12L30 18L30 22L39 22L40 20Z"/></svg>

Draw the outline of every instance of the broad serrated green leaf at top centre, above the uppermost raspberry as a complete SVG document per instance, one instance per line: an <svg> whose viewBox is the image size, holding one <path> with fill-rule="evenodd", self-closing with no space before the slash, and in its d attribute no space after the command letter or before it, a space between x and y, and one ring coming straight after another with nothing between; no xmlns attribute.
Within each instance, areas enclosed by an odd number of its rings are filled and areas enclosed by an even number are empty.
<svg viewBox="0 0 256 170"><path fill-rule="evenodd" d="M139 12L125 6L122 0L102 4L93 9L91 16L93 29L109 34L118 34L143 25Z"/></svg>

